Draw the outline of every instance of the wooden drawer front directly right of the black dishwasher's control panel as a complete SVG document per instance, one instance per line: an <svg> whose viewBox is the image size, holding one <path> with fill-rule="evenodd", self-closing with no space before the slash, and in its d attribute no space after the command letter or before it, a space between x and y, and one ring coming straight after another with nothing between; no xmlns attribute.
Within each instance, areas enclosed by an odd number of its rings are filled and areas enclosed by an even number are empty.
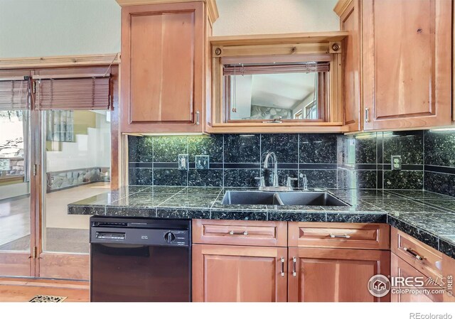
<svg viewBox="0 0 455 319"><path fill-rule="evenodd" d="M287 246L287 222L193 220L193 243Z"/></svg>

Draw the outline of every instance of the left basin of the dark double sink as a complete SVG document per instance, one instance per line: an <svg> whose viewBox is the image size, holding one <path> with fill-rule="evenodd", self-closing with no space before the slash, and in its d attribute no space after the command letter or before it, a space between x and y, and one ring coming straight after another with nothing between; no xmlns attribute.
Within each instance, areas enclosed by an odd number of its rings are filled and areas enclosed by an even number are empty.
<svg viewBox="0 0 455 319"><path fill-rule="evenodd" d="M277 193L228 190L223 205L282 205Z"/></svg>

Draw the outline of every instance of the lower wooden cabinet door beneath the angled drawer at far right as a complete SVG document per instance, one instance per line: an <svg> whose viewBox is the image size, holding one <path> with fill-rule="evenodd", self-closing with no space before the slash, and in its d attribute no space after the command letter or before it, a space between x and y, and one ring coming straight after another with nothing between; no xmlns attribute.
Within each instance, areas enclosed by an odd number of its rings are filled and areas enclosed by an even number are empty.
<svg viewBox="0 0 455 319"><path fill-rule="evenodd" d="M428 277L424 276L421 272L417 271L413 266L408 264L406 261L398 257L397 255L392 253L391 256L391 264L392 264L392 276L393 277L404 277L404 278L415 278L415 277L420 277L422 278L425 282L427 282ZM399 285L397 288L410 288L410 289L419 289L418 287L415 286L406 286L402 287ZM432 287L424 287L428 289L432 289ZM440 290L441 288L438 287L433 287L437 288ZM441 293L429 293L429 294L424 294L424 293L419 293L419 294L414 294L414 293L392 293L391 294L391 299L392 302L395 303L409 303L409 302L435 302L435 301L443 301L444 294Z"/></svg>

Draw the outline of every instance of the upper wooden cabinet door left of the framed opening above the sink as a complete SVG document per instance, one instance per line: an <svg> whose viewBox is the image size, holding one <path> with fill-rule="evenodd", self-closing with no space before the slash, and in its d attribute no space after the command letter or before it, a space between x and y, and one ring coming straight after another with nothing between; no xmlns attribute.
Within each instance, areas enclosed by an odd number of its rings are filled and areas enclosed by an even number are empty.
<svg viewBox="0 0 455 319"><path fill-rule="evenodd" d="M123 132L202 131L203 6L122 9Z"/></svg>

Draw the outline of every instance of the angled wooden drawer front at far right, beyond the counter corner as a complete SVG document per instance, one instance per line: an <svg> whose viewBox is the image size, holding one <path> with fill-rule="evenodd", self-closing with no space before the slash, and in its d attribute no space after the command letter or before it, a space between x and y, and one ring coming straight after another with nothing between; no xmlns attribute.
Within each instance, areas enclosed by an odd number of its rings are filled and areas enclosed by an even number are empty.
<svg viewBox="0 0 455 319"><path fill-rule="evenodd" d="M392 227L392 252L431 279L442 277L442 253Z"/></svg>

